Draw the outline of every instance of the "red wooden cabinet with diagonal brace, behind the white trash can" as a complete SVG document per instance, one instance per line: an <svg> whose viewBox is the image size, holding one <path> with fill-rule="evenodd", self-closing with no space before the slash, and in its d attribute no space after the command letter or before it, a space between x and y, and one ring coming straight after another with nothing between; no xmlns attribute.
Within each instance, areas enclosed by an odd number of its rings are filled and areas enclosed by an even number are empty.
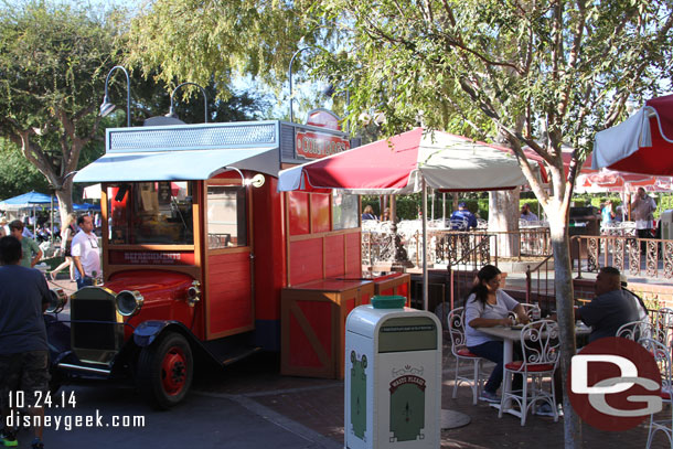
<svg viewBox="0 0 673 449"><path fill-rule="evenodd" d="M373 295L367 280L323 279L282 289L280 373L343 378L345 319Z"/></svg>

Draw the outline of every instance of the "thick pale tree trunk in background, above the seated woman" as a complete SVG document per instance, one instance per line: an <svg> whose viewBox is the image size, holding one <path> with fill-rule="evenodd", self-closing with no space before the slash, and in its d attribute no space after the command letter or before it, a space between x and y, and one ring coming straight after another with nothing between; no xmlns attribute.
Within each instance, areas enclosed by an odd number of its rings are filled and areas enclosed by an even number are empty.
<svg viewBox="0 0 673 449"><path fill-rule="evenodd" d="M489 192L489 231L499 234L498 255L517 257L520 248L519 189Z"/></svg>

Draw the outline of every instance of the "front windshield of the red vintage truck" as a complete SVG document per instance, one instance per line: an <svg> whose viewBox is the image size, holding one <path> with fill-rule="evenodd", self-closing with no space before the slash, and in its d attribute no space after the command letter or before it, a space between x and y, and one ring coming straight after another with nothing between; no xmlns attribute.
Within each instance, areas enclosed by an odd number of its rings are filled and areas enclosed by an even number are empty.
<svg viewBox="0 0 673 449"><path fill-rule="evenodd" d="M111 245L193 245L191 181L107 184Z"/></svg>

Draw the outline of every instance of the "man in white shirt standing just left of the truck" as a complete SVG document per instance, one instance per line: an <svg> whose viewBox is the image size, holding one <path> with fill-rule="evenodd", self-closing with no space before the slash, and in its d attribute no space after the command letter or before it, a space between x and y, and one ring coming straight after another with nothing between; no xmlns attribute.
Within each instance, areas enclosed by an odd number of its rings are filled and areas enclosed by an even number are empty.
<svg viewBox="0 0 673 449"><path fill-rule="evenodd" d="M77 289L81 289L94 285L93 278L100 275L100 249L90 215L78 217L77 226L81 231L73 237L71 255L76 268Z"/></svg>

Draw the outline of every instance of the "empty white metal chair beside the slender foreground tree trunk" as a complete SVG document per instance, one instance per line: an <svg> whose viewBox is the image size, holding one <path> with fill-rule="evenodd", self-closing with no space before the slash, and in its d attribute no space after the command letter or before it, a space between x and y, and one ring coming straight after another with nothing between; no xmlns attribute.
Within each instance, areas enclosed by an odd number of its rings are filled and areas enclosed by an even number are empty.
<svg viewBox="0 0 673 449"><path fill-rule="evenodd" d="M521 349L523 360L508 363L505 365L505 376L513 377L514 374L521 374L523 376L523 388L521 391L503 391L498 417L502 417L508 400L515 400L521 410L521 425L525 426L528 409L537 403L547 403L554 413L554 420L558 421L553 378L560 352L558 324L552 320L534 321L526 324L521 331ZM532 379L530 386L528 377ZM551 377L549 391L544 388L543 381L545 377ZM506 382L503 383L503 385L506 384Z"/></svg>

